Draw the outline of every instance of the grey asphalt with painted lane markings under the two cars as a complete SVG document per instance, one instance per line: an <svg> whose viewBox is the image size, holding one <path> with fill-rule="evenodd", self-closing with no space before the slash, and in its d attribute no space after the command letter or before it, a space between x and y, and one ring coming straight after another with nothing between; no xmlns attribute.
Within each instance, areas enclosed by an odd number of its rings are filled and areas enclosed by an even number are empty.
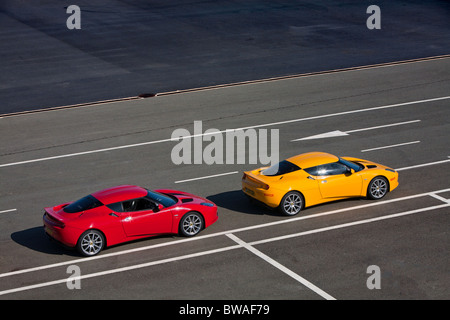
<svg viewBox="0 0 450 320"><path fill-rule="evenodd" d="M0 211L16 209L0 213L0 299L322 299L262 257L336 299L449 299L449 70L450 59L437 59L0 118ZM326 151L403 169L400 186L386 203L347 200L282 217L240 192L242 171L257 165L172 163L176 143L162 140L177 128L192 132L196 120L203 130L279 129L280 159ZM362 152L392 145L400 146ZM90 260L46 239L44 207L119 184L207 197L219 221L193 240L147 239ZM400 213L410 214L392 216ZM287 235L295 236L274 239ZM51 264L60 265L8 274ZM92 275L80 290L66 286L72 264ZM381 289L366 286L371 265L380 267Z"/></svg>

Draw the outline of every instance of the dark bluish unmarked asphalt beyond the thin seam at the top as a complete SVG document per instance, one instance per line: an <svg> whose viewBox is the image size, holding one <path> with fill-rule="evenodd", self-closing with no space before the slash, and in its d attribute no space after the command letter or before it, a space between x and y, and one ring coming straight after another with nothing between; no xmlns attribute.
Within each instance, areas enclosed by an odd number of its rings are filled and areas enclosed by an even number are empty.
<svg viewBox="0 0 450 320"><path fill-rule="evenodd" d="M0 114L449 54L448 1L372 4L2 0Z"/></svg>

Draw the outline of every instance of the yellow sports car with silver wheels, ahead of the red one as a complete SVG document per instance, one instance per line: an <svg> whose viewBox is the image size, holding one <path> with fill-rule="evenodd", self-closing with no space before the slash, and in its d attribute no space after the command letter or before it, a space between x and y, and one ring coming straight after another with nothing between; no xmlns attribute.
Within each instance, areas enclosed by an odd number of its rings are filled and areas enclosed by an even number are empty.
<svg viewBox="0 0 450 320"><path fill-rule="evenodd" d="M398 186L398 172L371 161L324 152L300 154L246 171L242 190L288 216L305 207L352 198L381 199Z"/></svg>

